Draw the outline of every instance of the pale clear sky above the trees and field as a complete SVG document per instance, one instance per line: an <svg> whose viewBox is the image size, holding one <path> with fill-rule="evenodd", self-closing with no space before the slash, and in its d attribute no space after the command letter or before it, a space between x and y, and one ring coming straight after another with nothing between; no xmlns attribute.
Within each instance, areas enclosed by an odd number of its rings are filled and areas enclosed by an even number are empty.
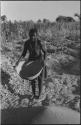
<svg viewBox="0 0 81 125"><path fill-rule="evenodd" d="M59 15L80 14L80 1L1 1L1 15L8 20L43 20L55 21Z"/></svg>

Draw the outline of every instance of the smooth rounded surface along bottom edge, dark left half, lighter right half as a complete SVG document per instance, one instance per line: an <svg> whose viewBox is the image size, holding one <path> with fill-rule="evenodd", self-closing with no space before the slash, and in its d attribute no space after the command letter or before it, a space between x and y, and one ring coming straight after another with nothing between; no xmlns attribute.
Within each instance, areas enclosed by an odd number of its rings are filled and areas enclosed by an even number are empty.
<svg viewBox="0 0 81 125"><path fill-rule="evenodd" d="M48 106L15 108L1 111L1 124L80 124L80 113Z"/></svg>

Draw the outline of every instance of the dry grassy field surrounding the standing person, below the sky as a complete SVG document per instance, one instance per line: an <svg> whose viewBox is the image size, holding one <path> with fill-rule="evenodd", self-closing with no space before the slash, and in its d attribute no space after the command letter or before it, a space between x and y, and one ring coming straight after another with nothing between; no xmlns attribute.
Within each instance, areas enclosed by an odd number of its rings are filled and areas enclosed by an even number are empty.
<svg viewBox="0 0 81 125"><path fill-rule="evenodd" d="M13 65L21 54L28 31L36 26L47 47L48 77L36 105L62 105L80 112L80 22L2 22L1 108L28 107L32 95Z"/></svg>

